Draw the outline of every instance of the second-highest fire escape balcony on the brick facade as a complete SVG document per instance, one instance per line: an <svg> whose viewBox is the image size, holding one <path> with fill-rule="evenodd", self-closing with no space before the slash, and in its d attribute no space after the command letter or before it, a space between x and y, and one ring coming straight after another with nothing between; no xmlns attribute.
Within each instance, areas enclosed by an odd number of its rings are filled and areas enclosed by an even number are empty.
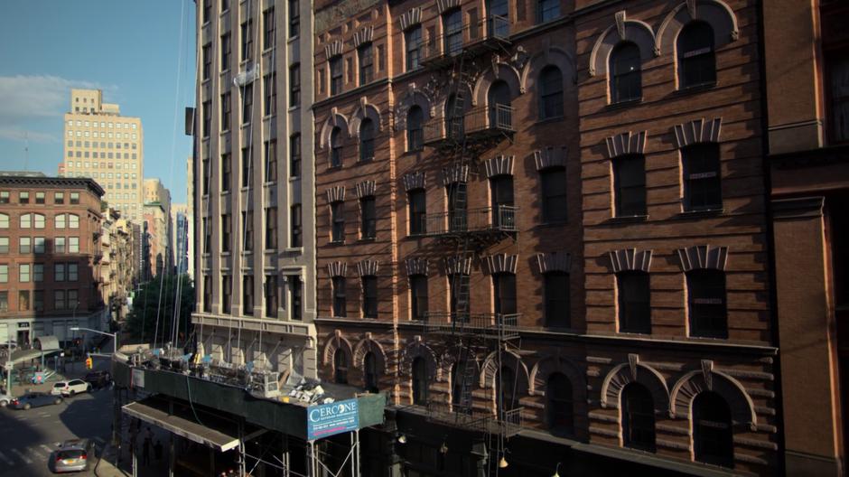
<svg viewBox="0 0 849 477"><path fill-rule="evenodd" d="M434 117L424 126L425 145L452 147L483 143L516 132L513 127L513 107L495 104L472 108L462 117Z"/></svg>

